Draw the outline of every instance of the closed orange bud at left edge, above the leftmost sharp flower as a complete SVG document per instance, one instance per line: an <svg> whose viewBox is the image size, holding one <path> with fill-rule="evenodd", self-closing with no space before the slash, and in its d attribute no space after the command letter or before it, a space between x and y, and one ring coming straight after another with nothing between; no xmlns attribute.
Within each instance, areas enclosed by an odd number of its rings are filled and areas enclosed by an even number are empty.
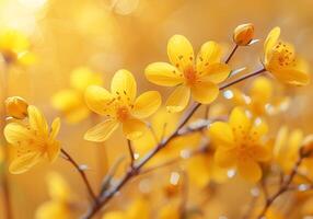
<svg viewBox="0 0 313 219"><path fill-rule="evenodd" d="M8 116L23 119L27 116L27 102L20 96L11 96L5 100L5 110Z"/></svg>

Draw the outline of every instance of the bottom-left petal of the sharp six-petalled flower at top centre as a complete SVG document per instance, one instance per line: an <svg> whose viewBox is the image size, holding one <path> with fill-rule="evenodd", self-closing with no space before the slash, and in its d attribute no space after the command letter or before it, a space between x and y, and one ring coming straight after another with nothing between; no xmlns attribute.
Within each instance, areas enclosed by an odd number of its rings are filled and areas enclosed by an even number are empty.
<svg viewBox="0 0 313 219"><path fill-rule="evenodd" d="M166 110L170 113L184 111L190 99L190 89L184 85L177 87L166 101Z"/></svg>

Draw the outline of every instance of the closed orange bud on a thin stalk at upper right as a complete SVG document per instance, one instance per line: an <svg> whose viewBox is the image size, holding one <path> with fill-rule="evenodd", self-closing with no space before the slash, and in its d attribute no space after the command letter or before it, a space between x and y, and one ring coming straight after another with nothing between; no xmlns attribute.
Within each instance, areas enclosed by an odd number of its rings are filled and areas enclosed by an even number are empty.
<svg viewBox="0 0 313 219"><path fill-rule="evenodd" d="M254 25L252 23L241 24L234 30L233 41L239 46L247 46L253 39Z"/></svg>

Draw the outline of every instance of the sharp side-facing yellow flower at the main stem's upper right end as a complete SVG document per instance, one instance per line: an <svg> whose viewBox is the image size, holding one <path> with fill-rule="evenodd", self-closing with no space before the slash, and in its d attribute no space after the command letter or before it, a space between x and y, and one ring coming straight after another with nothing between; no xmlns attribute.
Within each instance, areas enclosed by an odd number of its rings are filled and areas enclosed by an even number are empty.
<svg viewBox="0 0 313 219"><path fill-rule="evenodd" d="M273 28L264 44L264 66L279 81L294 85L310 82L308 64L295 55L291 44L279 39L280 28Z"/></svg>

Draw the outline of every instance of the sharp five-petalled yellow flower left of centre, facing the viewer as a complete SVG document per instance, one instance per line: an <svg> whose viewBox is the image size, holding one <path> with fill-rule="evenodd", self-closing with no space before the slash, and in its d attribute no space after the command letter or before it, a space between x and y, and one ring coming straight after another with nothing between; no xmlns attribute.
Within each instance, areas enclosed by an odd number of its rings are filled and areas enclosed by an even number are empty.
<svg viewBox="0 0 313 219"><path fill-rule="evenodd" d="M85 102L96 114L107 116L103 123L89 129L84 138L90 141L105 141L112 132L123 125L128 139L136 139L147 129L141 120L152 115L161 105L161 95L148 91L136 97L137 84L134 76L127 70L117 71L111 83L111 92L92 85L85 91Z"/></svg>

